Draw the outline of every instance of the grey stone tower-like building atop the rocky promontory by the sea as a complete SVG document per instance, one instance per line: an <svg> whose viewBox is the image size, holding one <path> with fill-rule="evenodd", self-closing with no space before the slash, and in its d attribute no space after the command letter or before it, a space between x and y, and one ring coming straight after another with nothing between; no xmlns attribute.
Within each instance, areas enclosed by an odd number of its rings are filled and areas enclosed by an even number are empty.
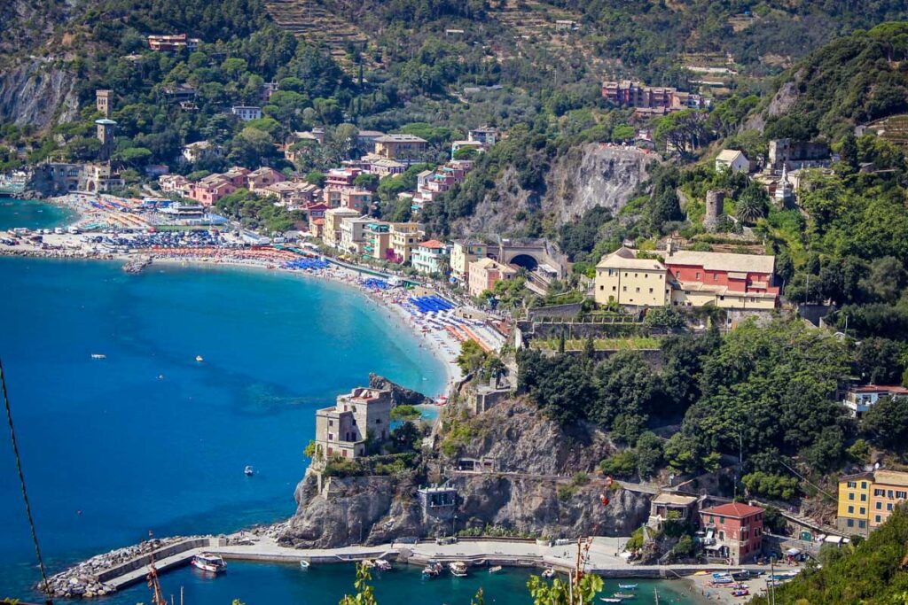
<svg viewBox="0 0 908 605"><path fill-rule="evenodd" d="M366 439L376 443L390 436L391 392L359 386L340 395L337 403L315 413L317 470L333 458L359 458L366 454Z"/></svg>

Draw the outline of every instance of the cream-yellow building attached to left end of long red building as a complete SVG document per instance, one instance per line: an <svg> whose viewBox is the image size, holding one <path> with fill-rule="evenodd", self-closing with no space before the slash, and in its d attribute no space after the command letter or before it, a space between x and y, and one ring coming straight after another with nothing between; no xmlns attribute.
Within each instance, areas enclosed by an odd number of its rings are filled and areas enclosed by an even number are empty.
<svg viewBox="0 0 908 605"><path fill-rule="evenodd" d="M671 300L666 266L656 259L637 259L637 250L619 248L596 266L595 300L600 305L664 307Z"/></svg>

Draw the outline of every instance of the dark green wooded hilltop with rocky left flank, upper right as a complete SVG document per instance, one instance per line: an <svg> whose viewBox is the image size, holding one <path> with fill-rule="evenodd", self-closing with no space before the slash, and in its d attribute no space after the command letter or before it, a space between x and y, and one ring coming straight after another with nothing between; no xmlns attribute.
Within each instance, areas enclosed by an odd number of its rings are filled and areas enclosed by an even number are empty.
<svg viewBox="0 0 908 605"><path fill-rule="evenodd" d="M780 82L761 116L769 138L835 139L854 124L908 112L908 22L826 44Z"/></svg>

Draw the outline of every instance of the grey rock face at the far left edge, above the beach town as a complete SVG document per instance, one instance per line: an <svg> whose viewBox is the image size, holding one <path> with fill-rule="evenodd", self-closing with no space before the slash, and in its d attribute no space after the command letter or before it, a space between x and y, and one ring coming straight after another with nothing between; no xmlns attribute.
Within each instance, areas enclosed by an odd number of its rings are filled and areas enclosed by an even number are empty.
<svg viewBox="0 0 908 605"><path fill-rule="evenodd" d="M32 124L43 130L68 122L78 111L72 73L31 59L0 73L0 122Z"/></svg>

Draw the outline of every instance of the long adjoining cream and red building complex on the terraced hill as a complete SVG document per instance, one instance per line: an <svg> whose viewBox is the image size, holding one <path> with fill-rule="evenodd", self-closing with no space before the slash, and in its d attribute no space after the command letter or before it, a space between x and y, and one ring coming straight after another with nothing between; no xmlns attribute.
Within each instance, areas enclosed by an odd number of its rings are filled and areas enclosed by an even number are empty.
<svg viewBox="0 0 908 605"><path fill-rule="evenodd" d="M678 250L640 258L621 247L596 266L595 299L629 307L703 307L769 310L779 288L773 286L775 257ZM654 255L655 256L655 255Z"/></svg>

